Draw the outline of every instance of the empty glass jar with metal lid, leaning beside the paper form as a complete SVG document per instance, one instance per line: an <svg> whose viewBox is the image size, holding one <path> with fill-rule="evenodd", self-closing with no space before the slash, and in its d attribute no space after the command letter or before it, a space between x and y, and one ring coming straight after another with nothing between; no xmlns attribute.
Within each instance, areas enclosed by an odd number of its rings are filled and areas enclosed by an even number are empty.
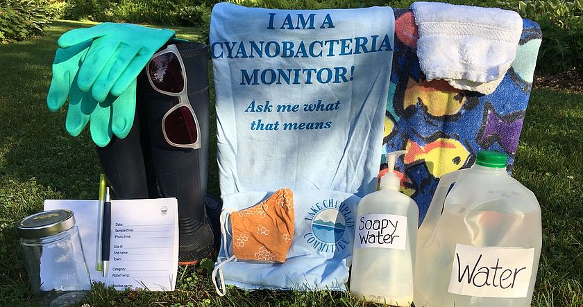
<svg viewBox="0 0 583 307"><path fill-rule="evenodd" d="M89 271L72 211L35 213L20 220L17 231L33 292L90 290Z"/></svg>

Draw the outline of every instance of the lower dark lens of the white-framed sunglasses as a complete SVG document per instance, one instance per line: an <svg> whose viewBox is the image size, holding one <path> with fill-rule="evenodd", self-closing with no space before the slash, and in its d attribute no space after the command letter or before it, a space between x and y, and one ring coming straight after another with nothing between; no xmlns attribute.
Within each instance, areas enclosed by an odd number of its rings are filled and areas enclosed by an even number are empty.
<svg viewBox="0 0 583 307"><path fill-rule="evenodd" d="M198 140L196 121L190 109L178 107L166 117L164 121L166 137L178 145L192 145Z"/></svg>

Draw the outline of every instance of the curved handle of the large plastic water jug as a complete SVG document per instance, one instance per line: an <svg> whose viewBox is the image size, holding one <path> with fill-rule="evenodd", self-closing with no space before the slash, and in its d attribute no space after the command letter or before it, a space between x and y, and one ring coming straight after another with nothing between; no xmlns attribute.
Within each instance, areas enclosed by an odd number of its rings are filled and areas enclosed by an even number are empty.
<svg viewBox="0 0 583 307"><path fill-rule="evenodd" d="M429 204L429 208L427 213L425 214L425 218L421 223L421 227L417 231L417 241L421 243L421 245L425 245L427 240L429 240L432 232L437 226L437 221L441 217L441 212L443 211L443 203L446 200L446 196L448 195L449 188L452 184L457 182L457 179L464 173L467 173L469 168L463 170L456 170L455 172L447 173L439 179L439 184L437 184L437 188L435 189L435 193Z"/></svg>

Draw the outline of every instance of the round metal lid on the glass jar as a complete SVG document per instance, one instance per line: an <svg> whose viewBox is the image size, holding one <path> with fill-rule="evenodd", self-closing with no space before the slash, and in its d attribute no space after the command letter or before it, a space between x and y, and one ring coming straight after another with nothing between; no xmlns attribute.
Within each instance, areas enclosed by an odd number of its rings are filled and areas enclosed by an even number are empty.
<svg viewBox="0 0 583 307"><path fill-rule="evenodd" d="M57 209L27 216L17 222L16 229L21 238L34 239L53 236L74 226L73 211Z"/></svg>

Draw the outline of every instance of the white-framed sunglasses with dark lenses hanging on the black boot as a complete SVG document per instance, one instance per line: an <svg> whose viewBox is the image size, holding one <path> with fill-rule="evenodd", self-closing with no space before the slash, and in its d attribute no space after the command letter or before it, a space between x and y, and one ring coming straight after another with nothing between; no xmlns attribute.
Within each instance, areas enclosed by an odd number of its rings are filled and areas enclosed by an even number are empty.
<svg viewBox="0 0 583 307"><path fill-rule="evenodd" d="M187 95L186 69L176 45L155 53L146 73L150 85L160 94L178 97L175 105L162 117L164 139L181 148L201 148L201 128Z"/></svg>

